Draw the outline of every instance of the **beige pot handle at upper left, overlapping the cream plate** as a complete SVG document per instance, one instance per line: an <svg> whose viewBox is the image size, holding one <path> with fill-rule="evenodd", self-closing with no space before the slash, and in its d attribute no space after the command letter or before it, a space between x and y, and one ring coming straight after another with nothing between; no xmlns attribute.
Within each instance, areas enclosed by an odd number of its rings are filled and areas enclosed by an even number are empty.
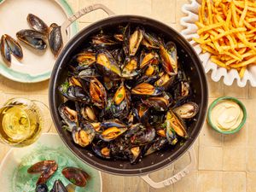
<svg viewBox="0 0 256 192"><path fill-rule="evenodd" d="M63 43L67 43L67 27L70 26L74 21L78 20L81 16L86 15L92 11L95 11L96 9L102 9L105 11L108 16L114 15L113 11L108 9L105 5L97 3L97 4L92 4L88 7L85 7L84 9L80 9L77 13L74 15L70 16L61 26L61 36Z"/></svg>

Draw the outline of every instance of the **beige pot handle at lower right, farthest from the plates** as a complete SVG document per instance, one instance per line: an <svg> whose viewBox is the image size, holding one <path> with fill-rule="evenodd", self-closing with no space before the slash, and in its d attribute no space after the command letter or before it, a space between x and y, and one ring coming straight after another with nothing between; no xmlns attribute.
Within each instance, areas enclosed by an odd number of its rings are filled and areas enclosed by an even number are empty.
<svg viewBox="0 0 256 192"><path fill-rule="evenodd" d="M177 181L181 180L183 177L188 175L189 172L191 172L193 170L193 168L195 167L195 150L193 147L189 149L189 157L190 157L190 163L188 166L186 166L182 171L177 172L176 175L169 177L164 181L154 182L149 177L149 175L141 176L141 178L143 178L143 180L146 183L148 183L151 187L153 187L154 189L164 188L168 185L176 183Z"/></svg>

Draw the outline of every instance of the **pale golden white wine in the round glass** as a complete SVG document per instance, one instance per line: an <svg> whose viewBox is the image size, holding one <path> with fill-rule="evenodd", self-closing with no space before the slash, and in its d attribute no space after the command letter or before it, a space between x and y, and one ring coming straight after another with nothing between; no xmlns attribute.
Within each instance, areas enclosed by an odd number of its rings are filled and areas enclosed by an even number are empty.
<svg viewBox="0 0 256 192"><path fill-rule="evenodd" d="M42 118L35 105L9 103L0 110L0 141L15 147L34 143L42 129Z"/></svg>

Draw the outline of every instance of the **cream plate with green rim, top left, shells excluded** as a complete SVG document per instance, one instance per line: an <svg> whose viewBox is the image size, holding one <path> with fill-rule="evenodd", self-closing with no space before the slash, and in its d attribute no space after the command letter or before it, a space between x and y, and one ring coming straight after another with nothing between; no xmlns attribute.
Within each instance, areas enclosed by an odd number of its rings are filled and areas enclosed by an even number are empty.
<svg viewBox="0 0 256 192"><path fill-rule="evenodd" d="M28 29L26 21L28 14L38 15L49 26L55 22L61 24L67 17L73 15L66 0L0 0L0 36L4 33L15 38L16 32ZM69 38L78 31L77 23L68 29ZM8 78L22 83L36 83L49 79L55 57L50 49L37 52L27 45L20 43L24 57L18 61L12 56L12 63L7 67L0 56L0 73Z"/></svg>

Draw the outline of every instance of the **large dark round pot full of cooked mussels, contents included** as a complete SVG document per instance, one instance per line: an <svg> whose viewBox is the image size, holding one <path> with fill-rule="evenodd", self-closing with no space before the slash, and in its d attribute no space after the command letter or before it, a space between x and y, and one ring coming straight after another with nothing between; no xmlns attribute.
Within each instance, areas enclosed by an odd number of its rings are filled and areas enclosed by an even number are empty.
<svg viewBox="0 0 256 192"><path fill-rule="evenodd" d="M110 16L67 42L55 62L52 118L63 142L84 163L143 176L171 164L195 142L207 113L206 75L195 50L170 26L113 15L101 4L67 20L62 38L73 20L95 9Z"/></svg>

